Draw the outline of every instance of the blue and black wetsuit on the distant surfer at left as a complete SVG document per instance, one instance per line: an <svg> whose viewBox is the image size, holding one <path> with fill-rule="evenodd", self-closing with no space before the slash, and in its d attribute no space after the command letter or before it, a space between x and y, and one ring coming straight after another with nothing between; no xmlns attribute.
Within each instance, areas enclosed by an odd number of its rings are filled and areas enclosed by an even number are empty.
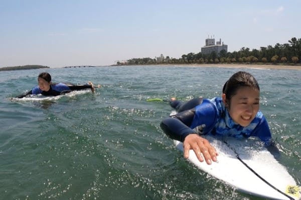
<svg viewBox="0 0 301 200"><path fill-rule="evenodd" d="M43 94L45 96L57 96L63 93L68 93L73 90L81 90L81 89L87 89L91 88L92 85L90 84L84 84L84 85L67 85L65 83L57 83L57 84L51 84L50 89L48 91L43 91L39 86L35 86L27 92L26 94L22 94L17 96L16 98L23 98L29 94Z"/></svg>

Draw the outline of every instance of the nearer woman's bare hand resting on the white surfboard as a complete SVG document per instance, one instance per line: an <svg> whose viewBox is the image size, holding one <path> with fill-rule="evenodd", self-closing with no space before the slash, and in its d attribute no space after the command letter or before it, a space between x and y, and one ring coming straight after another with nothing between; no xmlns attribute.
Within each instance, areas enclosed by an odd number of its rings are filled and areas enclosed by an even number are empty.
<svg viewBox="0 0 301 200"><path fill-rule="evenodd" d="M183 142L184 157L189 157L189 150L193 149L198 159L203 162L206 160L207 164L211 164L212 161L217 161L216 156L218 153L215 148L209 143L209 141L198 134L189 134L185 137Z"/></svg>

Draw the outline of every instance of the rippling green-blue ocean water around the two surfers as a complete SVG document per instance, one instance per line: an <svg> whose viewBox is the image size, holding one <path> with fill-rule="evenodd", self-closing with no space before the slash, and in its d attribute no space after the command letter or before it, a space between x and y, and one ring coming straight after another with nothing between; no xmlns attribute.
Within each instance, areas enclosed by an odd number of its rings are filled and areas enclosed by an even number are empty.
<svg viewBox="0 0 301 200"><path fill-rule="evenodd" d="M0 199L261 199L198 170L160 128L172 108L148 98L221 95L236 71L252 73L260 109L301 181L301 70L102 66L0 71ZM54 82L102 88L48 100L10 100Z"/></svg>

